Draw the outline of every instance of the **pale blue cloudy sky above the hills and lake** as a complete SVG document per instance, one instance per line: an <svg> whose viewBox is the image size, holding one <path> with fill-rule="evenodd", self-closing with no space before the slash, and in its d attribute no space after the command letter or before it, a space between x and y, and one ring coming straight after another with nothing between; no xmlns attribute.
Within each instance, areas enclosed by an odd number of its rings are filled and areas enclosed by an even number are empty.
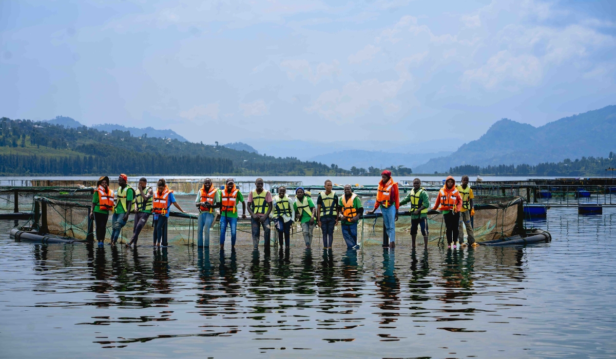
<svg viewBox="0 0 616 359"><path fill-rule="evenodd" d="M0 116L466 141L616 104L614 58L614 1L3 0Z"/></svg>

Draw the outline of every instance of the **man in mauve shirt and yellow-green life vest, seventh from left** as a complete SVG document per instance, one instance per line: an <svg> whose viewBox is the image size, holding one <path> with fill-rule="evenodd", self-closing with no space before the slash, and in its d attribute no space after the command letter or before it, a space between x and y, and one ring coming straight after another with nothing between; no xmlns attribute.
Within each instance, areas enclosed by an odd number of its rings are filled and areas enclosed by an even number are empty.
<svg viewBox="0 0 616 359"><path fill-rule="evenodd" d="M263 188L263 179L254 181L256 187L248 194L248 213L250 214L251 232L253 235L253 249L259 248L261 227L263 227L263 244L270 248L270 213L272 212L272 193Z"/></svg>

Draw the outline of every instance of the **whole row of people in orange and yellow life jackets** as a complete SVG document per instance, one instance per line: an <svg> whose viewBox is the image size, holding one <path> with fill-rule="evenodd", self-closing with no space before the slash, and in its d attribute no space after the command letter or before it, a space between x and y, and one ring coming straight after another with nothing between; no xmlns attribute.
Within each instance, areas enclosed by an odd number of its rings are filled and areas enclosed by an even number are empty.
<svg viewBox="0 0 616 359"><path fill-rule="evenodd" d="M111 245L115 245L121 230L128 222L129 212L134 211L134 225L131 240L126 246L137 245L137 239L149 217L153 215L153 244L167 246L167 221L171 205L180 212L185 211L177 204L173 191L169 189L164 179L158 180L156 189L148 187L147 179L139 179L137 190L128 185L128 177L121 174L118 178L118 190L114 195L109 188L109 177L100 177L92 198L90 216L96 226L96 238L99 246L105 240L107 222L110 211ZM468 233L468 243L476 246L472 232L471 217L474 216L473 198L468 185L468 176L462 177L462 184L456 186L452 176L447 177L445 184L439 190L436 203L432 209L443 214L448 248L464 246L463 226ZM224 246L227 227L230 229L231 245L237 240L238 203L242 203L241 218L246 219L246 211L251 217L251 232L254 249L259 246L261 230L264 235L265 248L270 246L272 225L277 233L278 243L287 248L290 246L291 228L294 222L300 222L302 236L306 248L312 246L315 226L321 228L323 248L331 249L334 228L341 224L341 232L347 249L358 249L357 224L364 214L361 199L353 193L351 185L344 186L344 194L338 196L333 192L331 180L325 181L325 191L318 193L315 204L310 192L303 187L296 188L292 200L286 193L286 187L278 187L278 193L272 195L265 190L264 181L256 179L255 189L248 194L248 205L233 179L227 179L224 188L216 188L211 179L205 179L203 186L195 198L195 206L199 210L197 246L209 247L210 228L220 215L220 244ZM395 248L395 222L398 220L400 206L411 204L411 241L415 248L418 229L424 240L424 248L428 247L428 209L429 196L421 187L421 180L413 180L413 189L401 201L397 182L391 177L390 171L383 171L374 208L365 214L374 214L380 210L383 215L384 243L383 246ZM132 210L131 210L132 209ZM458 241L460 244L458 244Z"/></svg>

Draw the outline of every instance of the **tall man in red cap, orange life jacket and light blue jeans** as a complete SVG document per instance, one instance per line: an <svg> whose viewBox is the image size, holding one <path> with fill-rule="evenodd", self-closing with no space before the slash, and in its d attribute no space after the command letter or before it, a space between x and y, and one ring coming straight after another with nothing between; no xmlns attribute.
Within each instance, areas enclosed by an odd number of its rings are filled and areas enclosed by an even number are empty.
<svg viewBox="0 0 616 359"><path fill-rule="evenodd" d="M391 178L391 171L381 172L381 182L376 192L375 208L366 214L373 214L377 208L381 208L383 214L384 233L389 237L389 244L386 243L383 235L383 247L395 248L395 221L398 220L398 208L400 208L400 198L398 183Z"/></svg>

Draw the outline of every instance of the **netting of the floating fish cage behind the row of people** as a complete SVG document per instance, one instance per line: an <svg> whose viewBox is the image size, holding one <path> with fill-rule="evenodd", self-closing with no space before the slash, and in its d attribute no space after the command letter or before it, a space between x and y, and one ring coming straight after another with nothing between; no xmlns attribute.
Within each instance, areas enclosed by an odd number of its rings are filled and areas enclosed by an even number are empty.
<svg viewBox="0 0 616 359"><path fill-rule="evenodd" d="M272 192L275 193L277 186L273 185ZM294 198L295 186L289 185L288 194ZM318 196L317 187L310 187L310 195L314 200ZM18 206L30 211L25 212L24 218L29 218L28 224L23 226L23 230L36 230L38 233L47 233L60 237L74 238L81 241L94 240L94 224L89 217L92 203L92 192L94 188L52 188L52 187L20 187L20 188L0 188L0 208L14 209L14 201L17 198ZM405 196L405 192L410 188L400 188L400 198ZM342 195L342 188L336 187L334 191ZM354 188L354 192L360 196L366 211L373 208L376 199L376 187ZM428 191L431 204L437 195L436 191ZM245 193L245 198L248 193ZM198 232L198 208L195 205L195 193L175 192L177 203L180 204L184 214L172 210L168 221L166 236L169 245L195 245L197 244ZM17 196L17 197L16 197ZM511 235L516 235L524 231L524 198L521 196L476 196L474 200L475 216L473 217L474 235L478 242L495 240ZM28 203L29 202L29 203ZM13 206L13 208L12 208ZM27 206L27 207L26 207ZM241 214L242 205L238 206L238 213ZM132 236L133 215L129 215L129 220L124 226L119 243L128 243ZM411 217L410 207L402 206L399 211L399 220L395 225L396 243L398 246L410 246L411 236ZM358 243L360 246L381 246L383 244L383 218L379 211L375 214L365 215L359 220L357 228ZM438 211L428 212L429 245L436 246L446 243L445 224L442 214ZM262 232L262 231L261 231ZM272 224L270 245L277 245L277 233ZM219 247L219 221L216 220L210 230L211 248ZM420 233L421 234L421 233ZM106 241L111 238L111 220L107 223ZM139 235L140 245L150 245L153 243L153 222L152 216L148 224L143 228ZM264 246L264 237L261 233L260 246ZM230 246L230 231L227 230L225 246ZM237 223L237 243L236 246L253 246L251 235L251 220L238 219ZM299 222L293 224L291 228L291 246L305 246ZM322 247L322 232L320 228L314 228L314 248ZM346 248L342 238L341 226L334 229L334 248Z"/></svg>

